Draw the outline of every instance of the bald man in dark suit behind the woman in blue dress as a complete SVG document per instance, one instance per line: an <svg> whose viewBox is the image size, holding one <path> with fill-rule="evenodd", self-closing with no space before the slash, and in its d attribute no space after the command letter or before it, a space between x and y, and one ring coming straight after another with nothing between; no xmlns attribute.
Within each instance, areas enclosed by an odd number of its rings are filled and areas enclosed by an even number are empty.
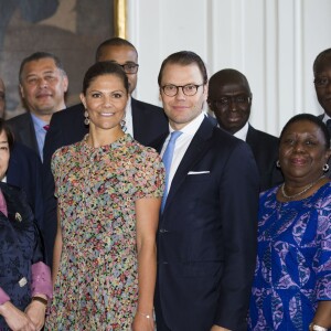
<svg viewBox="0 0 331 331"><path fill-rule="evenodd" d="M278 138L256 130L248 122L252 92L246 76L232 68L217 72L210 78L207 102L220 127L252 148L259 171L260 191L281 183L282 174L276 166Z"/></svg>

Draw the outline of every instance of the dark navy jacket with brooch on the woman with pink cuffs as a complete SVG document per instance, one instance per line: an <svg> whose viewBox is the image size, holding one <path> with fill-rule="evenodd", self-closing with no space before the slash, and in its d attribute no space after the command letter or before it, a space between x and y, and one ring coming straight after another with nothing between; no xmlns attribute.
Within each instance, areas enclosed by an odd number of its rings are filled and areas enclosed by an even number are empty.
<svg viewBox="0 0 331 331"><path fill-rule="evenodd" d="M43 261L43 246L24 192L2 182L0 189L8 210L8 217L0 212L0 287L24 311L31 302L31 266ZM22 278L26 282L19 282ZM0 329L7 327L0 317Z"/></svg>

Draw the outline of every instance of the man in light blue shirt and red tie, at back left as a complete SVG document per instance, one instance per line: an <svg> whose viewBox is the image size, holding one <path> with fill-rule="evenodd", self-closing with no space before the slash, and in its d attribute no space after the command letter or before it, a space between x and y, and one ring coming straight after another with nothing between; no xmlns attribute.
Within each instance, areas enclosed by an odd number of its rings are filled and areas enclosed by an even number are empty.
<svg viewBox="0 0 331 331"><path fill-rule="evenodd" d="M65 107L68 81L61 61L51 53L25 57L19 73L20 90L28 111L8 120L15 137L43 160L43 147L51 117Z"/></svg>

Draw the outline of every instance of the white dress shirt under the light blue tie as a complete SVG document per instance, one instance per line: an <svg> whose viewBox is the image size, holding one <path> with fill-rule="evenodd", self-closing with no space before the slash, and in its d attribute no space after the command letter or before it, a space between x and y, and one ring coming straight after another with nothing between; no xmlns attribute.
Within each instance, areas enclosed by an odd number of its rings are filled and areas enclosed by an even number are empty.
<svg viewBox="0 0 331 331"><path fill-rule="evenodd" d="M205 118L204 113L201 113L196 118L194 118L190 124L188 124L185 127L183 127L180 130L183 134L175 140L175 146L174 146L174 151L173 151L173 157L172 157L172 162L171 162L170 173L169 173L168 192L170 190L171 182L177 172L177 169L178 169L179 164L181 163L194 135L196 134L196 131L200 128L204 118ZM167 137L167 139L163 143L162 150L161 150L161 157L163 157L163 153L164 153L168 142L170 140L171 132L174 131L170 125L169 125L169 131L170 131L170 134Z"/></svg>

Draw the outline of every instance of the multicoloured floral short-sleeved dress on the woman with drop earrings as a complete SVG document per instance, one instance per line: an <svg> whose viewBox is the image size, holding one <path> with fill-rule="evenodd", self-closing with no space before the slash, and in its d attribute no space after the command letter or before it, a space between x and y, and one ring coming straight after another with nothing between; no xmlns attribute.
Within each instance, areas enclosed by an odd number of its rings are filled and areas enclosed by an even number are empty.
<svg viewBox="0 0 331 331"><path fill-rule="evenodd" d="M138 278L135 202L160 197L158 153L129 135L83 141L52 160L63 248L46 330L131 330Z"/></svg>

